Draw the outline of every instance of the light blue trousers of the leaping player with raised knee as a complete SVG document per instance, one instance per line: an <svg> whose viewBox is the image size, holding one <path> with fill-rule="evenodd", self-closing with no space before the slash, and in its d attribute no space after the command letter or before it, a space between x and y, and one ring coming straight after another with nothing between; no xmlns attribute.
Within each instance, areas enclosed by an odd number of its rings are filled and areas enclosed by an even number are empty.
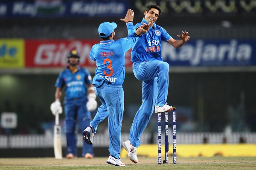
<svg viewBox="0 0 256 170"><path fill-rule="evenodd" d="M140 146L140 136L154 111L154 106L166 103L169 84L169 64L163 61L134 62L134 75L143 81L142 105L137 111L130 130L130 143Z"/></svg>

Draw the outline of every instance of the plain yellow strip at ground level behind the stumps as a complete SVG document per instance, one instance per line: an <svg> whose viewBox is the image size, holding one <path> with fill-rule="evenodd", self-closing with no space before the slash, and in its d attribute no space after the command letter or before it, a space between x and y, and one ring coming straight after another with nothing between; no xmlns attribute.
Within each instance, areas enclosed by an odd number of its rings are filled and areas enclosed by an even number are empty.
<svg viewBox="0 0 256 170"><path fill-rule="evenodd" d="M162 144L162 155L165 154ZM157 157L157 144L142 144L137 149L138 156ZM211 157L211 156L256 156L256 144L177 144L177 156L180 157ZM169 162L172 160L172 145L169 144ZM122 148L121 158L127 157Z"/></svg>

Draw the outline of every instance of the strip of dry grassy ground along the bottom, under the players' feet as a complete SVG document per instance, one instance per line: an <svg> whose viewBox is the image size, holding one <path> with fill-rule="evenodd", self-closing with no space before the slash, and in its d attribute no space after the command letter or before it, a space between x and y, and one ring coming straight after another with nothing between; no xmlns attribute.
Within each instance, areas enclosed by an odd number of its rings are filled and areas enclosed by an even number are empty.
<svg viewBox="0 0 256 170"><path fill-rule="evenodd" d="M107 164L107 159L1 158L0 170L256 170L256 157L177 157L177 164L158 165L157 158L139 156L137 164L122 159L126 167Z"/></svg>

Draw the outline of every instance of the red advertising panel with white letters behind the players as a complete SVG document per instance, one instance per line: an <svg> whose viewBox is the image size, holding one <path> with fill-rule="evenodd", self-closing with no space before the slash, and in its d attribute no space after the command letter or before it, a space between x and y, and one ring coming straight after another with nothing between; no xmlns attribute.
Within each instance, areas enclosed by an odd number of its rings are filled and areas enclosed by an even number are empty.
<svg viewBox="0 0 256 170"><path fill-rule="evenodd" d="M67 66L67 55L72 49L80 54L80 65L96 67L96 62L90 59L91 47L100 40L26 40L26 68L55 68ZM125 66L131 66L131 50L125 54Z"/></svg>

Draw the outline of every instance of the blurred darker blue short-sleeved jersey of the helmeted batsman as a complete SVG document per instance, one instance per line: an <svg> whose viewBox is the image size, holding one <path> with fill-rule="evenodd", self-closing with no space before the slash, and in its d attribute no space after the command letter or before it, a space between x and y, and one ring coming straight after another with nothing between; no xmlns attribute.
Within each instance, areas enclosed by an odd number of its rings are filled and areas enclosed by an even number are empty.
<svg viewBox="0 0 256 170"><path fill-rule="evenodd" d="M62 71L56 80L55 87L65 86L65 100L87 98L87 86L92 83L90 73L79 66L73 74L69 67Z"/></svg>

